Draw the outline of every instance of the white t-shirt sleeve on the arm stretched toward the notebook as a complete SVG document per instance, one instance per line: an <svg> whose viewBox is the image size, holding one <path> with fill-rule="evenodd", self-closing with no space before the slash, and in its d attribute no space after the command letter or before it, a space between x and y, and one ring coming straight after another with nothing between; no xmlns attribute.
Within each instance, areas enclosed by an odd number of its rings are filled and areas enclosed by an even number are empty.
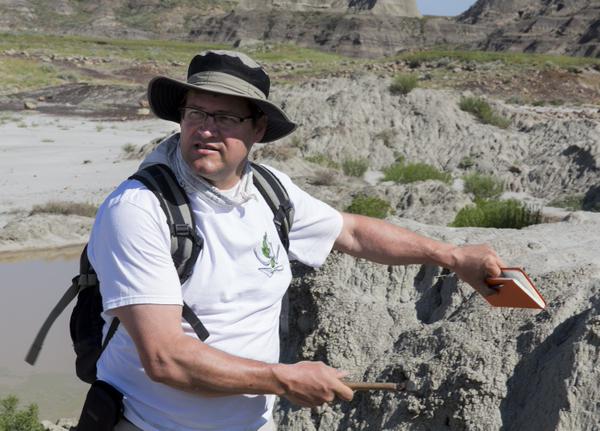
<svg viewBox="0 0 600 431"><path fill-rule="evenodd" d="M268 168L277 175L294 206L289 234L290 259L312 267L321 266L342 231L341 213L300 189L287 175L270 166Z"/></svg>

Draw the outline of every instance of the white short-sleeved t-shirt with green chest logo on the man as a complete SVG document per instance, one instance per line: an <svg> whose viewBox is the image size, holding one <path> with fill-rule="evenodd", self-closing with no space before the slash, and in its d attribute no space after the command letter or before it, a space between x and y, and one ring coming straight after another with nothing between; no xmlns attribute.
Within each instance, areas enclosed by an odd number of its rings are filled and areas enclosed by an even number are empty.
<svg viewBox="0 0 600 431"><path fill-rule="evenodd" d="M320 266L341 231L340 213L270 169L295 209L289 258ZM100 207L88 247L104 309L181 305L185 300L208 329L207 344L276 363L281 298L291 271L273 213L258 191L256 195L258 199L227 208L190 196L204 246L192 276L181 286L157 199L135 180L122 183ZM196 337L183 319L182 327ZM98 378L125 394L125 416L144 430L255 430L271 417L275 401L273 395L205 398L153 382L122 325L98 361Z"/></svg>

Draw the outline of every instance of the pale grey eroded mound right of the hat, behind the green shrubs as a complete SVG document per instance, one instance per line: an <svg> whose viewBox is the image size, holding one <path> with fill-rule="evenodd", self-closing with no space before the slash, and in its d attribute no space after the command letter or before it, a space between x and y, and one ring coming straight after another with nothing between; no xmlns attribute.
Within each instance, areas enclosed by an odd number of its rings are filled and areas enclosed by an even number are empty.
<svg viewBox="0 0 600 431"><path fill-rule="evenodd" d="M374 170L403 157L460 176L462 163L471 159L472 169L500 177L510 191L546 202L586 193L598 183L600 114L594 107L532 109L492 102L512 120L500 129L462 111L460 93L415 89L398 96L389 84L389 78L365 75L275 90L273 97L302 123L278 145L295 145L304 157L368 158ZM295 172L296 160L282 167ZM397 193L389 194L394 204L405 201L404 191Z"/></svg>

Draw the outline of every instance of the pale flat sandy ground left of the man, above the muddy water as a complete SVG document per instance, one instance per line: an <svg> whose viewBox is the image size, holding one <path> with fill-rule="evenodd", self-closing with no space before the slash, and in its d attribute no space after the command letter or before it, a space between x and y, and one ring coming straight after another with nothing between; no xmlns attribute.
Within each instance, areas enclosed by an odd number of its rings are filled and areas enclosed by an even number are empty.
<svg viewBox="0 0 600 431"><path fill-rule="evenodd" d="M17 229L17 234L7 225L22 220L33 206L49 201L101 203L137 168L138 160L127 159L128 148L130 152L135 151L176 129L176 124L158 119L118 122L34 112L3 113L0 116L0 232L4 230L4 241L0 241L0 252L4 253L0 261L14 259L7 251L14 253L84 242L80 235L69 239L68 231L77 230L77 225L65 225L67 232L56 232L53 236L40 235L44 224L50 223L55 229L60 226L47 216L29 218L25 226ZM81 221L85 223L89 220ZM23 229L38 232L23 233ZM15 241L6 241L11 235Z"/></svg>

